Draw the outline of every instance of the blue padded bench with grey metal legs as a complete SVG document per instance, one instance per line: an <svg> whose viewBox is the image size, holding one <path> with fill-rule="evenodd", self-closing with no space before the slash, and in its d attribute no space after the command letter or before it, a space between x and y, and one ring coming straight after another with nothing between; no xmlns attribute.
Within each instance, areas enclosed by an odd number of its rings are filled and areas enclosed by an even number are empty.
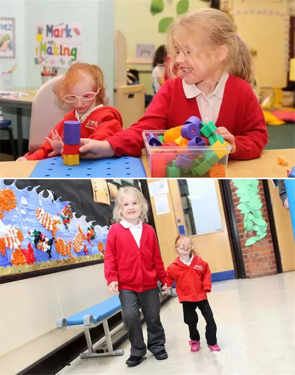
<svg viewBox="0 0 295 375"><path fill-rule="evenodd" d="M81 358L91 357L106 357L112 355L123 355L123 350L114 350L108 325L108 319L113 315L121 311L121 303L118 295L97 303L94 306L89 307L80 313L74 314L68 318L59 318L57 321L57 327L63 329L71 329L82 327L84 329L88 352L81 353ZM96 327L98 324L103 324L104 333L106 336L106 342L108 351L104 353L96 353L93 351L89 328Z"/></svg>

